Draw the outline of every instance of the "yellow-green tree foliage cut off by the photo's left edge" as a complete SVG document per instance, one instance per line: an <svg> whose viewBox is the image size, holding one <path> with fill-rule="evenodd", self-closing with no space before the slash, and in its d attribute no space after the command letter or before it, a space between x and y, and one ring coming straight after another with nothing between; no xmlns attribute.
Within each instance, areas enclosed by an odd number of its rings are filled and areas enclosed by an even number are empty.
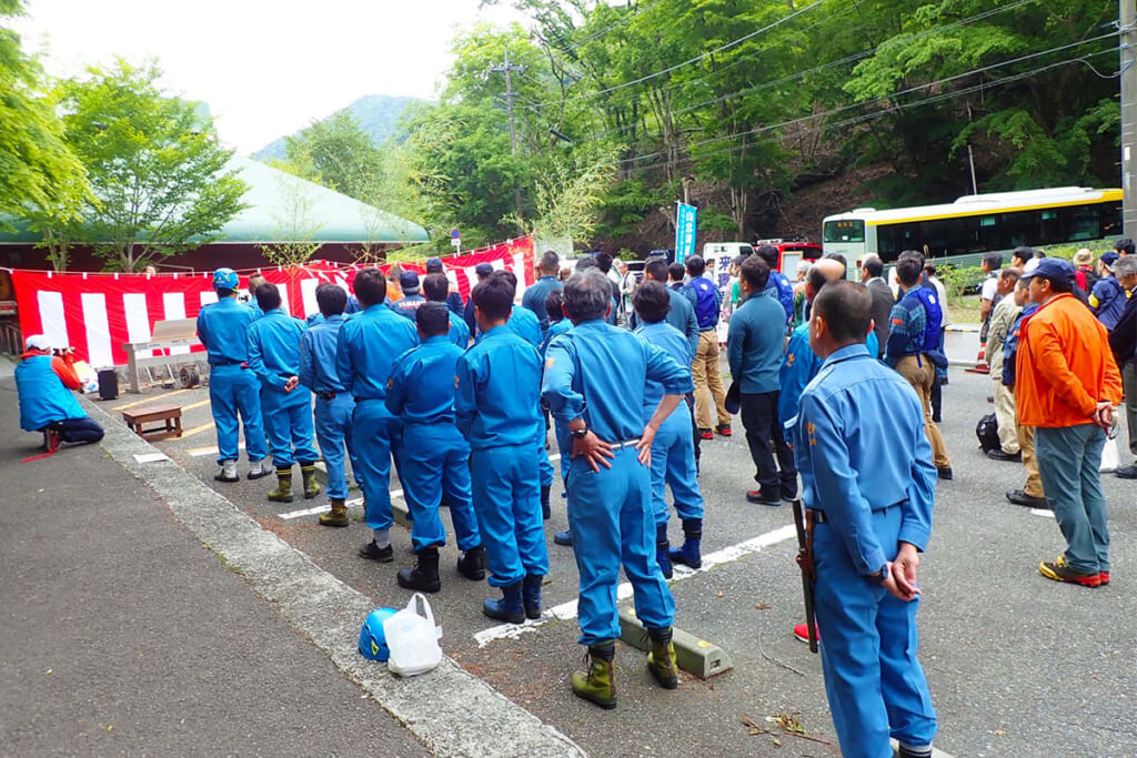
<svg viewBox="0 0 1137 758"><path fill-rule="evenodd" d="M49 86L19 35L5 27L23 14L20 0L0 0L0 230L7 217L66 220L90 188L83 164L64 140Z"/></svg>

